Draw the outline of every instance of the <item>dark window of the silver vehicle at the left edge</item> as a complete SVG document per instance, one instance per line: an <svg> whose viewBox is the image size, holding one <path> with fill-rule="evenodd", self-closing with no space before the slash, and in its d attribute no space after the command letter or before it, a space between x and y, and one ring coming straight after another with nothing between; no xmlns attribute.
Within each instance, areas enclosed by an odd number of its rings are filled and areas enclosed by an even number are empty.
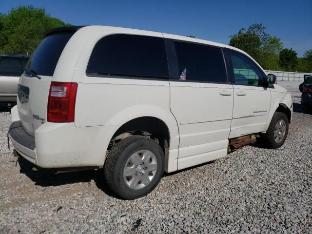
<svg viewBox="0 0 312 234"><path fill-rule="evenodd" d="M0 57L0 76L19 77L23 73L28 58Z"/></svg>

